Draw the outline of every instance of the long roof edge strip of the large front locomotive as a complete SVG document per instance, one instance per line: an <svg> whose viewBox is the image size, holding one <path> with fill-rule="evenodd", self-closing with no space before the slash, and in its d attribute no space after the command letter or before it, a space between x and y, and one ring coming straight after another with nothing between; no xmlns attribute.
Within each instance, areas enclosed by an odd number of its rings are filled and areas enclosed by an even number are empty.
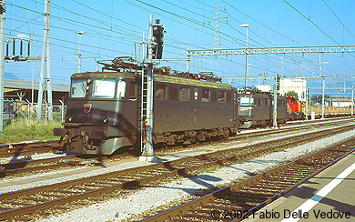
<svg viewBox="0 0 355 222"><path fill-rule="evenodd" d="M72 78L87 78L87 77L97 77L97 78L130 78L135 79L140 77L140 72L137 73L123 73L123 72L86 72L86 73L75 73L71 77ZM213 88L223 88L223 89L235 89L228 84L222 83L213 83L203 80L183 78L177 76L163 76L163 75L154 75L154 80L157 82L170 83L170 84L180 84L180 85L189 85L189 86L205 86L205 87L213 87Z"/></svg>

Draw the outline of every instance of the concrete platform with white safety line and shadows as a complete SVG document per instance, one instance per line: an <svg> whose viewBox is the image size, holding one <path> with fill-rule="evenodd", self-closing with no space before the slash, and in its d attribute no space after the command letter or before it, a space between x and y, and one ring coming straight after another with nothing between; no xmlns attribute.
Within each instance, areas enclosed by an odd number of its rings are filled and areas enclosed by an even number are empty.
<svg viewBox="0 0 355 222"><path fill-rule="evenodd" d="M355 221L355 153L243 221Z"/></svg>

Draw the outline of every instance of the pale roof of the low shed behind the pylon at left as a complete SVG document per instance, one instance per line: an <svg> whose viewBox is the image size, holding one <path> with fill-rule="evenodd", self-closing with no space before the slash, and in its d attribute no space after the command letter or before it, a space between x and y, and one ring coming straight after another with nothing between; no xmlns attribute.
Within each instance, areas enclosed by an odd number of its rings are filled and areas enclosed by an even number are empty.
<svg viewBox="0 0 355 222"><path fill-rule="evenodd" d="M35 90L38 89L38 82L34 82ZM52 83L52 91L56 92L69 92L69 84L57 84ZM13 89L32 89L31 81L15 80L15 79L4 79L4 88Z"/></svg>

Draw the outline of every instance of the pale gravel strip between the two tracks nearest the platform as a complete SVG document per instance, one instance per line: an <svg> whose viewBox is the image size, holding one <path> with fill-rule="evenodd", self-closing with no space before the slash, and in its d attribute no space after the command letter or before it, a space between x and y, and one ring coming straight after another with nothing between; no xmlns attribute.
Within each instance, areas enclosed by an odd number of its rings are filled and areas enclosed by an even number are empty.
<svg viewBox="0 0 355 222"><path fill-rule="evenodd" d="M76 209L66 214L50 217L41 221L119 221L132 220L133 216L152 209L167 205L178 199L189 197L201 189L229 183L238 177L247 176L249 173L258 172L307 152L329 146L342 139L353 136L355 130L337 136L322 138L306 145L289 148L285 152L276 152L266 156L249 160L243 164L222 167L215 172L208 172L198 177L182 178L160 187L150 187L137 191L128 197L119 197L101 204ZM132 218L133 217L133 218ZM136 218L137 219L137 218Z"/></svg>

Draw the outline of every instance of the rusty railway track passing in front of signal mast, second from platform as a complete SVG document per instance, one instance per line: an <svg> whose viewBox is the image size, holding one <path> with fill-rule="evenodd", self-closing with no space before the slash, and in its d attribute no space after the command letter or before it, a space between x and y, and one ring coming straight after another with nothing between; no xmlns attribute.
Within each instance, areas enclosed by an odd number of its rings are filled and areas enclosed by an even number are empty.
<svg viewBox="0 0 355 222"><path fill-rule="evenodd" d="M228 166L256 156L273 152L276 148L288 148L312 140L320 136L331 136L354 129L355 125L340 126L308 135L292 136L287 140L277 139L261 144L233 148L200 156L190 156L170 162L149 166L130 168L107 173L96 177L85 177L50 186L34 187L0 195L0 219L16 220L33 219L35 215L46 214L51 207L64 207L65 204L86 199L117 197L117 192L154 186L174 177L192 177L198 169L211 166ZM94 200L95 201L95 200ZM70 206L70 205L69 205ZM19 217L20 216L20 217Z"/></svg>

